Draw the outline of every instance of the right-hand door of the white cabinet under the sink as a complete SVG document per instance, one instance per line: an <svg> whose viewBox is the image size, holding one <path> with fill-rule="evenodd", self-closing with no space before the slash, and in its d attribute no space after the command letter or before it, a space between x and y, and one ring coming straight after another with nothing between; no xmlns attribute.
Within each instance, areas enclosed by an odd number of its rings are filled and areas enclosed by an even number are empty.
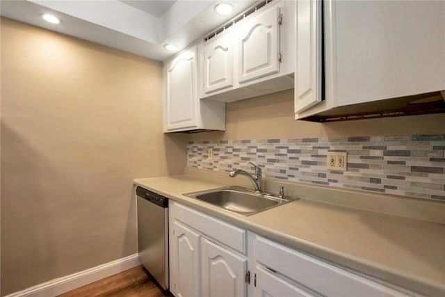
<svg viewBox="0 0 445 297"><path fill-rule="evenodd" d="M202 296L247 296L247 258L202 240Z"/></svg>

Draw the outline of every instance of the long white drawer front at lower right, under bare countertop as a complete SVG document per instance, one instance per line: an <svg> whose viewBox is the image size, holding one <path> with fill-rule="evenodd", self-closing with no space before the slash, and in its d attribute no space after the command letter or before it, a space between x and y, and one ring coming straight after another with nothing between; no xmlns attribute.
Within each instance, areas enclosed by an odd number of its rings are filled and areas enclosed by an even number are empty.
<svg viewBox="0 0 445 297"><path fill-rule="evenodd" d="M337 266L257 236L257 262L326 296L407 296Z"/></svg>

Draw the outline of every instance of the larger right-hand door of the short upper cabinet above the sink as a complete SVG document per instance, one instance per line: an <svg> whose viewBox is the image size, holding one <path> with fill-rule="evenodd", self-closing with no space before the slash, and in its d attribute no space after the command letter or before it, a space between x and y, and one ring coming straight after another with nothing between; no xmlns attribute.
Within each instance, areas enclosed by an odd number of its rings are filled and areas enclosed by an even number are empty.
<svg viewBox="0 0 445 297"><path fill-rule="evenodd" d="M261 10L238 29L239 83L280 71L280 6L272 3Z"/></svg>

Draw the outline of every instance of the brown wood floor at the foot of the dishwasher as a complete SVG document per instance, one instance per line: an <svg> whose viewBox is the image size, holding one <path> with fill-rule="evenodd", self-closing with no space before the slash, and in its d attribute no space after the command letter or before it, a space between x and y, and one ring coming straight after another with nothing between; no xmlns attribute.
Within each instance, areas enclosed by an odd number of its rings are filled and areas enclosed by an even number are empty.
<svg viewBox="0 0 445 297"><path fill-rule="evenodd" d="M90 296L145 296L163 297L159 287L149 278L142 265L131 268L122 273L112 275L84 287L69 291L60 297L90 297Z"/></svg>

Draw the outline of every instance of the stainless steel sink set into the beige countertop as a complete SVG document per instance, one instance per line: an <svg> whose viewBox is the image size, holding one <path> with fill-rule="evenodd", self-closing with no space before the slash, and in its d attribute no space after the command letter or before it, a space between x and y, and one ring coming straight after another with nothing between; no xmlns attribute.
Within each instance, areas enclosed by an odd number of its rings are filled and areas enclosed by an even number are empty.
<svg viewBox="0 0 445 297"><path fill-rule="evenodd" d="M274 197L273 194L261 194L241 186L216 188L209 191L186 193L184 195L211 203L229 211L234 211L243 216L257 214L260 211L277 207L278 205L297 199L291 197L278 198Z"/></svg>

